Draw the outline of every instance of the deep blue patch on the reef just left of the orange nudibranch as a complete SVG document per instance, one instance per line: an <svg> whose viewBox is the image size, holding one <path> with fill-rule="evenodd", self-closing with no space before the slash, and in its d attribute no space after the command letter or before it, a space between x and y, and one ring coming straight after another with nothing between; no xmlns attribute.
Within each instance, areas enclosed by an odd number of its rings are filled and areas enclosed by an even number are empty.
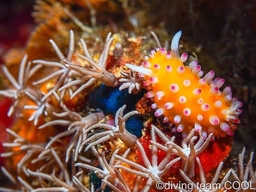
<svg viewBox="0 0 256 192"><path fill-rule="evenodd" d="M90 94L88 100L90 108L99 108L106 115L112 114L114 116L124 104L126 104L124 114L136 110L135 105L143 96L144 90L138 94L129 94L128 89L120 91L119 86L108 87L102 84ZM143 119L138 115L131 116L126 121L126 129L138 138L141 136L142 128Z"/></svg>

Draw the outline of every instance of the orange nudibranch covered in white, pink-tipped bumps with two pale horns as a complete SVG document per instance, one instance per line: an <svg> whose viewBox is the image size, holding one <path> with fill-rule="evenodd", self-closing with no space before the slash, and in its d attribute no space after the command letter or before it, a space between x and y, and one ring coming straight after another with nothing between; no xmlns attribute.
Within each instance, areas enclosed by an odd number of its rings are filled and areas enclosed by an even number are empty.
<svg viewBox="0 0 256 192"><path fill-rule="evenodd" d="M154 101L155 116L163 115L164 122L175 124L173 132L182 132L185 137L193 127L196 131L202 127L205 137L212 132L217 138L232 135L236 128L232 123L239 122L242 102L232 98L230 87L220 91L224 79L213 80L214 71L201 78L204 72L198 61L184 66L188 54L179 54L180 37L181 31L174 35L171 52L161 48L156 40L158 47L151 50L149 57L145 56L142 66L126 66L146 78L144 86L149 90L146 96Z"/></svg>

